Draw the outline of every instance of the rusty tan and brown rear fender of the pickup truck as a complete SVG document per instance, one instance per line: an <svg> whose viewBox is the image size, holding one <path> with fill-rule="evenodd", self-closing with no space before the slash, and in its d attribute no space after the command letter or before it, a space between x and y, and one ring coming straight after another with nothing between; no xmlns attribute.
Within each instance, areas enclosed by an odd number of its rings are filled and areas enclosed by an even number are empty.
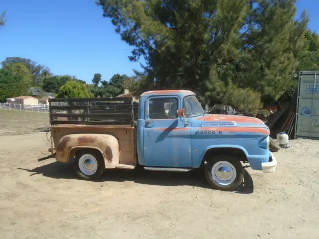
<svg viewBox="0 0 319 239"><path fill-rule="evenodd" d="M106 168L115 168L119 164L120 150L116 137L109 134L78 133L63 136L56 148L56 161L66 163L78 149L99 150Z"/></svg>

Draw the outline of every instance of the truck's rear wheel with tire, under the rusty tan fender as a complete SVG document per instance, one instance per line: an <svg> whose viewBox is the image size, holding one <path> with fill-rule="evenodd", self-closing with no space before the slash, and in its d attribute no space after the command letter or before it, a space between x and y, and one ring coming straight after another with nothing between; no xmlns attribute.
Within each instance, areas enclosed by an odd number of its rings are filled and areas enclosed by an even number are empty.
<svg viewBox="0 0 319 239"><path fill-rule="evenodd" d="M101 178L105 171L104 159L97 150L83 149L76 153L74 169L79 178L96 180Z"/></svg>

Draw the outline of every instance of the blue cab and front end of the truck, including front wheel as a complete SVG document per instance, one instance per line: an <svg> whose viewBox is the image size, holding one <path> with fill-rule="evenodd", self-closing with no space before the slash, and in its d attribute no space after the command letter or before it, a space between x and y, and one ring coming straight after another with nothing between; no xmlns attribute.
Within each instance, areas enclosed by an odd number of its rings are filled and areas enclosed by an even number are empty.
<svg viewBox="0 0 319 239"><path fill-rule="evenodd" d="M140 98L137 152L145 169L188 171L204 166L212 187L233 190L243 181L242 163L275 171L269 134L257 118L205 114L191 91L151 91Z"/></svg>

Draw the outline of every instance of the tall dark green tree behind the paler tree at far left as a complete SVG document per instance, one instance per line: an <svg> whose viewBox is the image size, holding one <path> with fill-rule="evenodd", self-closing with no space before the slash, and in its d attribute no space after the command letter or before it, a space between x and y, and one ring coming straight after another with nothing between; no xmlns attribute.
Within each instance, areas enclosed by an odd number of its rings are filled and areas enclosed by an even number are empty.
<svg viewBox="0 0 319 239"><path fill-rule="evenodd" d="M32 61L27 58L21 57L7 57L2 62L2 67L11 64L11 63L22 63L32 74L33 76L33 84L36 86L40 86L41 83L41 76L42 74L50 73L50 69L44 65L40 65L35 61Z"/></svg>

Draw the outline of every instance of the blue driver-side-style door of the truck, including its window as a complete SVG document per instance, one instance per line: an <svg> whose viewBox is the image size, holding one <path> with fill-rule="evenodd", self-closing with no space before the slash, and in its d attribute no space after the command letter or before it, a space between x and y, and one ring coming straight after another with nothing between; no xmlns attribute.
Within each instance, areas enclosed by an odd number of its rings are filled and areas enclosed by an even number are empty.
<svg viewBox="0 0 319 239"><path fill-rule="evenodd" d="M177 117L176 96L149 98L144 125L145 166L191 167L190 126Z"/></svg>

